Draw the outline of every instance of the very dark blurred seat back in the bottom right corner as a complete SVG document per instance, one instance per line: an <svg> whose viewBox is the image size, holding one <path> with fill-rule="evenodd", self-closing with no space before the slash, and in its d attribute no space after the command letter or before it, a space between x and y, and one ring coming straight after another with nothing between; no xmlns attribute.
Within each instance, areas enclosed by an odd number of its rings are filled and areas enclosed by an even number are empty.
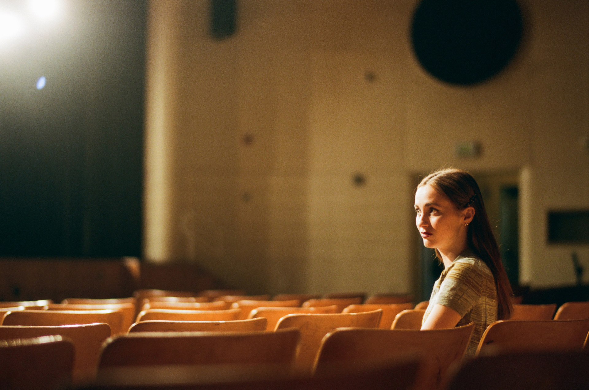
<svg viewBox="0 0 589 390"><path fill-rule="evenodd" d="M514 352L466 361L446 390L589 389L589 354L572 351Z"/></svg>

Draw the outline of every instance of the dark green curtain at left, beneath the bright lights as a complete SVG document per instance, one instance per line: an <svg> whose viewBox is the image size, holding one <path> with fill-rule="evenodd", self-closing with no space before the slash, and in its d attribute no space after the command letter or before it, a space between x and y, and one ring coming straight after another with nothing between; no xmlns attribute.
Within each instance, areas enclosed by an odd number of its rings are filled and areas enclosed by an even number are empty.
<svg viewBox="0 0 589 390"><path fill-rule="evenodd" d="M2 48L0 256L140 256L146 5L64 4Z"/></svg>

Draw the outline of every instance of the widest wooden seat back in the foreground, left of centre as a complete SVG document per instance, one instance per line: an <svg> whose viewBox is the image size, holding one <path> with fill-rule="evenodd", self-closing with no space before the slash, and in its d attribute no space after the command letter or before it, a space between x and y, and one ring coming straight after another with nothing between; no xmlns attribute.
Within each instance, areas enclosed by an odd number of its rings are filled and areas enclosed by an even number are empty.
<svg viewBox="0 0 589 390"><path fill-rule="evenodd" d="M137 332L105 342L99 369L116 366L274 364L290 370L300 331Z"/></svg>

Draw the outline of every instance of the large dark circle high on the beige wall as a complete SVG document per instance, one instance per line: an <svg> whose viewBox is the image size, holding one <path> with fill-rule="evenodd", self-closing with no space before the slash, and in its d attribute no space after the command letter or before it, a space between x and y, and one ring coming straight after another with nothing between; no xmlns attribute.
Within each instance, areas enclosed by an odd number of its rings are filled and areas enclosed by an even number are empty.
<svg viewBox="0 0 589 390"><path fill-rule="evenodd" d="M521 35L515 0L422 0L411 27L423 68L458 85L498 74L515 55Z"/></svg>

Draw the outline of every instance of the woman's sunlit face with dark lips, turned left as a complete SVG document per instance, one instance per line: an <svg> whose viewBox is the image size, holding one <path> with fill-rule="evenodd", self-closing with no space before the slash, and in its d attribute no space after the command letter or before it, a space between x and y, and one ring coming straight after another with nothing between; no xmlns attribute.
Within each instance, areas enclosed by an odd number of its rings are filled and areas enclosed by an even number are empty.
<svg viewBox="0 0 589 390"><path fill-rule="evenodd" d="M472 220L472 216L467 215L470 214L468 209L472 207L459 210L447 196L439 194L430 185L419 187L415 193L415 225L423 245L439 251L462 245L466 238L464 224Z"/></svg>

